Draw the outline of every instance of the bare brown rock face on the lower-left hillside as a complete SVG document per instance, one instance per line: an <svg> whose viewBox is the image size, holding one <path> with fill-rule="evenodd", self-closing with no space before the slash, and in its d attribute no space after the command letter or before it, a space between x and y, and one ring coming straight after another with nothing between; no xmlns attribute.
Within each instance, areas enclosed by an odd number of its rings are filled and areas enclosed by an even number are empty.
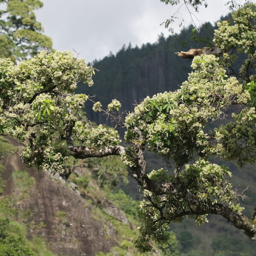
<svg viewBox="0 0 256 256"><path fill-rule="evenodd" d="M15 146L20 146L11 140ZM50 178L44 172L26 168L15 154L2 160L7 180L5 195L19 198L20 209L30 209L32 217L27 221L28 235L43 237L52 252L58 256L93 256L109 252L117 245L117 233L113 224L96 214L96 206L81 197L72 187L59 179ZM26 170L35 180L35 185L21 196L15 186L12 173ZM128 223L125 214L111 202L102 203L105 212L120 222Z"/></svg>

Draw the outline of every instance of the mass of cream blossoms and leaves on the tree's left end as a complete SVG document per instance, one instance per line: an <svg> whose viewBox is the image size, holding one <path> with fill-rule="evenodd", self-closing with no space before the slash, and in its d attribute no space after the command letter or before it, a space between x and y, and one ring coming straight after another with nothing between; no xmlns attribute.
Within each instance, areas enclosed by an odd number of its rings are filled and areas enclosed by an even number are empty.
<svg viewBox="0 0 256 256"><path fill-rule="evenodd" d="M71 52L43 51L18 65L0 58L0 132L29 141L24 163L63 172L67 146L54 134L65 137L68 125L83 119L81 108L88 96L74 90L79 81L92 85L92 74L93 68Z"/></svg>

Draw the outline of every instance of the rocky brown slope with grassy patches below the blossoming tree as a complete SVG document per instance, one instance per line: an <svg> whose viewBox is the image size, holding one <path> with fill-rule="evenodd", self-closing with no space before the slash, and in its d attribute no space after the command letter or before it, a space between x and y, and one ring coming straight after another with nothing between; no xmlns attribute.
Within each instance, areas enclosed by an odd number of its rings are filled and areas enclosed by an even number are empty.
<svg viewBox="0 0 256 256"><path fill-rule="evenodd" d="M13 139L9 141L15 149L22 146ZM137 223L129 215L128 221L93 179L89 178L87 185L81 184L86 192L82 195L78 185L66 183L59 175L49 177L45 172L26 168L17 154L6 154L1 164L5 166L2 178L6 180L6 189L0 195L0 216L6 208L1 202L12 201L8 208L15 214L7 213L6 218L24 225L29 240L45 241L56 256L94 256L108 252L115 255L122 251L127 251L124 255L135 255L131 239L137 236ZM78 168L73 180L81 180L83 175L90 177L90 170ZM31 244L28 247L32 249ZM41 255L44 254L35 254ZM160 255L160 250L152 255Z"/></svg>

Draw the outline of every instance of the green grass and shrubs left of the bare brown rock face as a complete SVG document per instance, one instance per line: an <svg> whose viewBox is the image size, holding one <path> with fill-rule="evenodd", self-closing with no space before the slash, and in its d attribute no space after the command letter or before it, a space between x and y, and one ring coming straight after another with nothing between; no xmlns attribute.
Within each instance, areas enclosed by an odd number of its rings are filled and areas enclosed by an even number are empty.
<svg viewBox="0 0 256 256"><path fill-rule="evenodd" d="M0 150L6 155L13 146L1 139ZM6 180L2 174L5 167L0 163L0 194L6 188ZM18 198L15 195L0 195L0 256L55 256L44 240L36 236L27 238L27 221L32 217L30 210L20 210L17 202L35 184L32 177L25 171L13 173L15 186L20 190Z"/></svg>

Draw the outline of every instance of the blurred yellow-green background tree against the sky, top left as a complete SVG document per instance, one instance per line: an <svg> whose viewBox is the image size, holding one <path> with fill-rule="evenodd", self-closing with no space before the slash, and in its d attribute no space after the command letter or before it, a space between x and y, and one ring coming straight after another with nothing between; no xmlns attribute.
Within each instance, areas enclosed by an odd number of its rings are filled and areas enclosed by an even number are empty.
<svg viewBox="0 0 256 256"><path fill-rule="evenodd" d="M42 35L41 23L33 10L43 6L40 0L0 0L0 56L25 59L34 56L42 47L52 49L52 40ZM3 5L3 3L5 5Z"/></svg>

